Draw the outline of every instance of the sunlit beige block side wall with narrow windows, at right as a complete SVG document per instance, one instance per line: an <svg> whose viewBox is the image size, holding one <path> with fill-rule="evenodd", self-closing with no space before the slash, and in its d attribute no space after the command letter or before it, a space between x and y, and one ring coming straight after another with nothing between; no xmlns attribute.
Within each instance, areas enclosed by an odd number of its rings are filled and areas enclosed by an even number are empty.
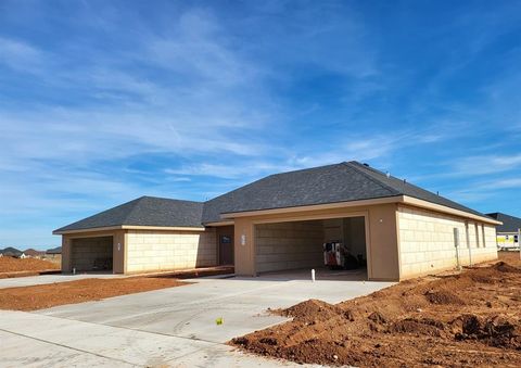
<svg viewBox="0 0 521 368"><path fill-rule="evenodd" d="M403 205L398 206L397 219L401 279L456 267L455 228L459 232L461 265L469 265L470 258L472 263L497 258L496 230L492 225L479 223L476 238L475 223L472 220Z"/></svg>

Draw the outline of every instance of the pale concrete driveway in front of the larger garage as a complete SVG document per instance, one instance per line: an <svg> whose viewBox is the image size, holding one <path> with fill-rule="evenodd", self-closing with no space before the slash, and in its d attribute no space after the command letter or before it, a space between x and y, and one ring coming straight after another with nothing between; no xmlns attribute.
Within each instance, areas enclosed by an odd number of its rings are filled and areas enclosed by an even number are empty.
<svg viewBox="0 0 521 368"><path fill-rule="evenodd" d="M196 279L186 287L37 313L1 312L0 365L50 367L71 359L66 361L78 366L287 366L234 352L225 343L285 320L267 314L268 307L312 297L338 303L392 284L317 277L316 282L306 274ZM224 323L217 326L220 317Z"/></svg>

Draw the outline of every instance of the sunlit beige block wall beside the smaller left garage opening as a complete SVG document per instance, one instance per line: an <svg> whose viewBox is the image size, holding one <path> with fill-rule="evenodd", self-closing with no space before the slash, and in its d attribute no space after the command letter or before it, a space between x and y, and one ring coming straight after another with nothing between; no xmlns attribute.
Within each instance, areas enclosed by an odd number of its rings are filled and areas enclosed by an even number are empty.
<svg viewBox="0 0 521 368"><path fill-rule="evenodd" d="M128 230L126 272L217 265L215 228L205 231Z"/></svg>

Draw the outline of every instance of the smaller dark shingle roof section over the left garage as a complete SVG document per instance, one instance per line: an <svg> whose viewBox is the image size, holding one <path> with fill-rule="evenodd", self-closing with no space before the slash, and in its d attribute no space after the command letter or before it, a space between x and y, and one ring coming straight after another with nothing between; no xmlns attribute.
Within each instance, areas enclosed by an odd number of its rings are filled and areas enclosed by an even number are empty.
<svg viewBox="0 0 521 368"><path fill-rule="evenodd" d="M201 227L202 212L202 202L141 196L54 231L82 230L122 225Z"/></svg>

